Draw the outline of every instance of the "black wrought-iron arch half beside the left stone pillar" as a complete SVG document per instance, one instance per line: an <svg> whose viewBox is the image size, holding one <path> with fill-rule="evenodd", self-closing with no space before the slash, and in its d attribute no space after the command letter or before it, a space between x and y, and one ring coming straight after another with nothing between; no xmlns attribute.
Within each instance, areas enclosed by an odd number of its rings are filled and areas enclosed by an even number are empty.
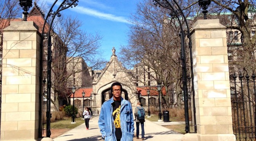
<svg viewBox="0 0 256 141"><path fill-rule="evenodd" d="M61 14L60 12L62 10L65 10L69 7L73 8L73 6L77 6L78 5L78 0L63 0L61 2L61 4L58 6L57 10L56 11L53 11L53 8L54 6L56 6L56 3L58 2L59 0L55 0L53 5L51 6L48 14L46 15L45 17L45 22L43 24L43 28L42 28L42 39L41 39L41 42L40 42L40 74L39 74L39 82L40 82L40 87L39 87L39 92L40 92L40 96L39 96L39 102L40 102L40 111L39 111L39 128L41 129L42 128L42 96L43 96L43 89L42 89L42 82L43 82L43 48L44 48L44 40L46 40L47 42L47 89L46 89L46 93L47 93L47 110L46 110L46 137L49 137L51 136L51 131L50 131L50 119L51 119L51 62L52 62L52 56L51 56L51 27L52 27L52 24L53 24L53 21L55 19L55 17L60 17ZM49 17L52 17L52 19L50 21L48 21L48 18ZM50 23L49 24L49 27L48 29L45 28L46 26L46 23L48 24L48 22ZM45 29L48 30L46 31L45 33ZM42 134L40 133L41 131L38 130L38 133L40 136L42 136Z"/></svg>

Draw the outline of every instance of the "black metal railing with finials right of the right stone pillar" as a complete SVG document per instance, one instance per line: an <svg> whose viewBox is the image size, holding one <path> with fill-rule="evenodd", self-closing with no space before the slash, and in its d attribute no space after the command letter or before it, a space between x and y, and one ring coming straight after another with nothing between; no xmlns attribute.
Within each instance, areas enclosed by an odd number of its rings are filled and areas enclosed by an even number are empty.
<svg viewBox="0 0 256 141"><path fill-rule="evenodd" d="M256 140L256 87L255 75L237 76L230 79L233 132L238 141Z"/></svg>

